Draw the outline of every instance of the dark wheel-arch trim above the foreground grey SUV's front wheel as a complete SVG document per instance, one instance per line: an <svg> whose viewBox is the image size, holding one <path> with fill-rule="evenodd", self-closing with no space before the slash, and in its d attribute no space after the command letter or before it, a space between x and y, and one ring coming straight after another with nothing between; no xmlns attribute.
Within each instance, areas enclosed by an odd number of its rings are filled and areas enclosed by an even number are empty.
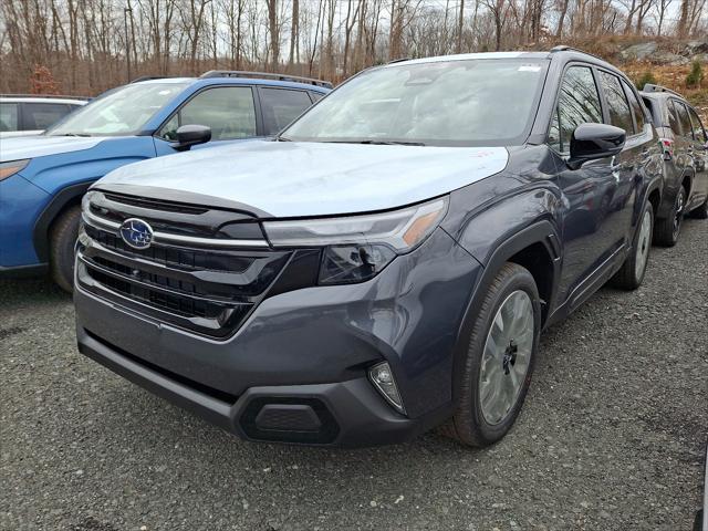
<svg viewBox="0 0 708 531"><path fill-rule="evenodd" d="M555 296L555 290L560 280L561 272L561 247L560 235L556 228L548 219L535 221L534 223L525 227L509 238L507 238L501 244L494 249L488 262L483 264L483 270L479 274L472 295L467 304L465 314L461 320L460 329L457 334L457 341L452 348L452 399L457 400L459 397L459 389L461 386L462 365L465 363L465 356L469 347L469 336L472 332L475 324L476 312L483 298L487 294L487 289L491 285L494 277L501 269L501 267L509 261L511 257L519 251L525 249L529 246L541 243L545 247L553 263L553 282L551 287L551 301ZM550 305L551 301L544 301ZM549 308L550 310L550 308ZM546 312L549 315L550 312ZM543 329L543 323L541 323Z"/></svg>

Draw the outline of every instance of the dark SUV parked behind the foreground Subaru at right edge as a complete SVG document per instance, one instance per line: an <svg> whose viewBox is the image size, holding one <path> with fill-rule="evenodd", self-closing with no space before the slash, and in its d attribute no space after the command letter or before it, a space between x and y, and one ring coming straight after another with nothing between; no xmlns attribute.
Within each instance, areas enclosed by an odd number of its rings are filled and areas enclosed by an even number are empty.
<svg viewBox="0 0 708 531"><path fill-rule="evenodd" d="M698 113L680 94L647 84L642 98L652 112L665 162L654 241L674 246L685 215L708 217L708 136Z"/></svg>

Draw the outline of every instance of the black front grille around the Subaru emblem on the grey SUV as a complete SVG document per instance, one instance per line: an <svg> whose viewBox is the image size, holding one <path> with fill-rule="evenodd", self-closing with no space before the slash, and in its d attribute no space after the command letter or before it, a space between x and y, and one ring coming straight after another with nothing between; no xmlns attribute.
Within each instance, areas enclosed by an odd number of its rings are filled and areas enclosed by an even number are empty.
<svg viewBox="0 0 708 531"><path fill-rule="evenodd" d="M96 192L91 194L88 208L94 212L92 201ZM106 204L104 195L97 199L96 202ZM118 199L112 195L112 205L118 204ZM126 201L139 204L140 209L158 204L135 198ZM171 210L148 214L150 219L160 216L171 219L176 215ZM128 247L117 230L104 221L115 226L133 215L114 208L111 218L84 217L76 262L80 285L137 313L211 337L225 339L238 330L275 283L292 254L248 247L225 249L219 244L195 248L173 241L155 241L147 249L137 250ZM222 242L217 238L218 229L209 226L214 219L225 219L223 212L215 215L194 207L179 214L178 223L183 228L192 227L200 235L210 233L215 242ZM100 227L102 222L104 226ZM170 221L162 225L163 230L168 230ZM258 226L254 220L252 225Z"/></svg>

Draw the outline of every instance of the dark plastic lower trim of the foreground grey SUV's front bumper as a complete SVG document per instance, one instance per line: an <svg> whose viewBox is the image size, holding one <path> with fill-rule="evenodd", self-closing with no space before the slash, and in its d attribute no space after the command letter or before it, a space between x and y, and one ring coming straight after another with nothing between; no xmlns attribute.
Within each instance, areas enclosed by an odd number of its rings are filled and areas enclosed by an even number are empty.
<svg viewBox="0 0 708 531"><path fill-rule="evenodd" d="M448 414L444 408L416 419L398 415L365 377L251 387L231 403L147 367L85 331L79 333L82 354L243 439L352 447L394 444L414 438ZM293 413L293 405L301 407ZM268 415L261 414L264 407Z"/></svg>

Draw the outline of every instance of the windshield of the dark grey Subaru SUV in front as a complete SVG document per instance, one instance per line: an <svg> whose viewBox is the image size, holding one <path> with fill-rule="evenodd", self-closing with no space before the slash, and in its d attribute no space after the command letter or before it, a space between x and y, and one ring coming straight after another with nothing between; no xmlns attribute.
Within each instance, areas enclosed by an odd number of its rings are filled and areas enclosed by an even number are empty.
<svg viewBox="0 0 708 531"><path fill-rule="evenodd" d="M372 70L322 100L281 138L437 146L522 143L546 65L457 60Z"/></svg>

